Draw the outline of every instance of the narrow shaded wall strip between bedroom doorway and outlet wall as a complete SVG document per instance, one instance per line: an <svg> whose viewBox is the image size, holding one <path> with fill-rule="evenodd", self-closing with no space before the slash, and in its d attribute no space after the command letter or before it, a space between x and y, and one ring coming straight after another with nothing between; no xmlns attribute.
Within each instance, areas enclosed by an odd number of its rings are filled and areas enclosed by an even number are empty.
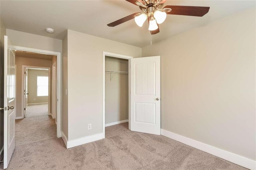
<svg viewBox="0 0 256 170"><path fill-rule="evenodd" d="M68 33L62 40L62 132L68 139ZM75 83L75 82L74 82Z"/></svg>

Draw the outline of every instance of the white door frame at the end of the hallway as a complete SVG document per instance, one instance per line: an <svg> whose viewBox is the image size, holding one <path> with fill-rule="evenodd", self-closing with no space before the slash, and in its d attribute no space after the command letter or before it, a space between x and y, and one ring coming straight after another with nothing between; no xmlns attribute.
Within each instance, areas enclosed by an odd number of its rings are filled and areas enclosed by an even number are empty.
<svg viewBox="0 0 256 170"><path fill-rule="evenodd" d="M22 65L22 71L23 71L23 73L25 72L25 70L26 70L26 68L27 69L29 69L29 68L34 68L34 69L48 69L48 84L49 84L49 86L48 86L48 115L50 115L50 102L51 102L51 98L50 98L50 96L51 96L51 68L50 67L39 67L39 66L31 66L31 65ZM16 117L17 119L23 119L24 118L24 74L22 73L22 86L21 86L21 88L22 88L22 100L21 100L21 105L22 105L22 112L21 112L21 117Z"/></svg>

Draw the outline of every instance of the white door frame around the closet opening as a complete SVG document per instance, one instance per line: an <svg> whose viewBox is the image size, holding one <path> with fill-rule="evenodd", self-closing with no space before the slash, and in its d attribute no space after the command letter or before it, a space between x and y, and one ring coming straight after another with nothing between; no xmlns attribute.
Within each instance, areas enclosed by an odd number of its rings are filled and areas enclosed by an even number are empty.
<svg viewBox="0 0 256 170"><path fill-rule="evenodd" d="M102 82L103 82L103 86L102 86L102 91L103 91L103 97L102 97L102 132L103 132L103 138L105 138L105 62L106 62L106 56L107 57L114 57L114 58L121 58L121 59L127 59L128 60L128 94L129 94L129 129L130 129L130 115L131 115L131 103L130 103L130 95L131 95L131 75L130 75L130 71L131 71L131 59L133 57L128 56L128 55L121 55L121 54L115 54L115 53L109 53L109 52L105 52L103 51L103 65L102 65Z"/></svg>

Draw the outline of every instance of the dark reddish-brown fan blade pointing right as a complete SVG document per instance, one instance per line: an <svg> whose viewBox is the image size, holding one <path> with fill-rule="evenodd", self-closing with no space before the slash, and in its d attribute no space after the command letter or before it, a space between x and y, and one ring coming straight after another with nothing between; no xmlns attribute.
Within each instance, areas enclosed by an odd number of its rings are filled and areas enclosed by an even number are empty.
<svg viewBox="0 0 256 170"><path fill-rule="evenodd" d="M187 15L187 16L204 16L208 13L210 7L205 6L176 6L167 5L164 8L171 8L171 12L166 12L166 14L173 15Z"/></svg>

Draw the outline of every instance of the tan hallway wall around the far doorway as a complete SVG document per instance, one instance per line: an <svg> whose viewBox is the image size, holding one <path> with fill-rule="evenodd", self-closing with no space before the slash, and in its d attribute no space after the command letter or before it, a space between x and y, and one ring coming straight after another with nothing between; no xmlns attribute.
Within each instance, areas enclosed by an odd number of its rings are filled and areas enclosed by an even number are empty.
<svg viewBox="0 0 256 170"><path fill-rule="evenodd" d="M16 56L16 117L22 116L22 65L51 67L52 61Z"/></svg>

